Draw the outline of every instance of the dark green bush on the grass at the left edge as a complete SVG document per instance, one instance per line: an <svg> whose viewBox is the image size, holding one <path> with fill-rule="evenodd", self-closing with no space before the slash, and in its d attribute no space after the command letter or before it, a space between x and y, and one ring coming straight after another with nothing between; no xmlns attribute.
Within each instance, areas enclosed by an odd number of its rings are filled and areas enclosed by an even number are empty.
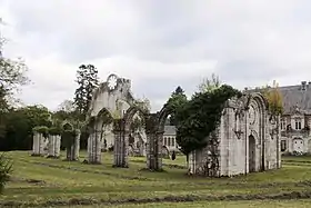
<svg viewBox="0 0 311 208"><path fill-rule="evenodd" d="M12 172L12 162L8 159L4 153L0 155L0 194L2 194L6 184L10 179Z"/></svg>

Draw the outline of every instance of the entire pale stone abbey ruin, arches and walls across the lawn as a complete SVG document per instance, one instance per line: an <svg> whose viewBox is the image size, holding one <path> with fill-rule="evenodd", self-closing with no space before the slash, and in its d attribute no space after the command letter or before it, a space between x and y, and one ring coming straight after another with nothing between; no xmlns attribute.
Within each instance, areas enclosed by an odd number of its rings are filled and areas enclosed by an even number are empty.
<svg viewBox="0 0 311 208"><path fill-rule="evenodd" d="M147 168L162 169L163 152L178 150L175 127L168 126L167 106L154 113L131 92L131 81L110 75L93 92L87 118L88 164L102 164L106 151L113 151L113 167L129 167L129 157L147 158ZM72 130L72 129L71 129ZM76 132L76 131L74 131ZM258 92L227 101L220 126L207 137L208 146L189 155L189 174L210 177L234 176L281 167L280 118L268 110ZM79 132L67 148L67 158L79 158ZM33 137L33 153L48 143ZM59 156L59 137L51 137L49 153ZM103 155L103 156L102 156Z"/></svg>

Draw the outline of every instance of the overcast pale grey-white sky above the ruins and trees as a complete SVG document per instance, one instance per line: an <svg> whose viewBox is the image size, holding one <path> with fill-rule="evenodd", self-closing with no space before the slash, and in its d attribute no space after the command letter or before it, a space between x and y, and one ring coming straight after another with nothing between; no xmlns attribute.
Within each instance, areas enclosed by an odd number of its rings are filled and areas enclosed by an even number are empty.
<svg viewBox="0 0 311 208"><path fill-rule="evenodd" d="M310 0L0 0L3 55L30 68L19 96L50 109L73 97L81 63L131 79L153 110L212 72L241 89L309 81L310 11Z"/></svg>

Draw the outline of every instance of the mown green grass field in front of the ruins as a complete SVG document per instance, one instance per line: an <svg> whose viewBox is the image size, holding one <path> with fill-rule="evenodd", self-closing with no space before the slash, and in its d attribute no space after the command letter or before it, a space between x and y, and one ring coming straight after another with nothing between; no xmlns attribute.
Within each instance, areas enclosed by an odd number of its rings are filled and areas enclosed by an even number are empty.
<svg viewBox="0 0 311 208"><path fill-rule="evenodd" d="M64 152L62 153L64 155ZM30 157L12 151L13 175L0 207L311 207L311 158L287 157L279 170L234 178L185 176L185 158L164 159L163 172L143 170L144 158L130 168ZM86 152L81 152L81 160Z"/></svg>

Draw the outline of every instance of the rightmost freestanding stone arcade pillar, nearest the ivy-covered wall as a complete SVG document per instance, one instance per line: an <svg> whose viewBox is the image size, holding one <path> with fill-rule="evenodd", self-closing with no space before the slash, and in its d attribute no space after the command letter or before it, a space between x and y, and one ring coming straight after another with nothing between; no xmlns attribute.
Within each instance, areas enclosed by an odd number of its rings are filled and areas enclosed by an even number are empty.
<svg viewBox="0 0 311 208"><path fill-rule="evenodd" d="M149 116L146 122L147 131L147 168L150 170L162 170L162 137L163 131L159 131L159 120L157 113Z"/></svg>

